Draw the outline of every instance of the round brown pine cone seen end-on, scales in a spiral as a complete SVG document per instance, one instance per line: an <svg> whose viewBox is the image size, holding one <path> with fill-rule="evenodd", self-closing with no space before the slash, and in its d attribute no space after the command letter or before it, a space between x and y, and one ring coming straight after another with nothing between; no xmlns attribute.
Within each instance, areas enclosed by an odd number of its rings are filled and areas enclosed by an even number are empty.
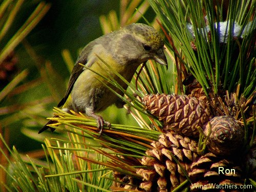
<svg viewBox="0 0 256 192"><path fill-rule="evenodd" d="M229 156L241 149L244 139L243 127L230 116L212 118L204 133L208 135L207 147L215 155Z"/></svg>

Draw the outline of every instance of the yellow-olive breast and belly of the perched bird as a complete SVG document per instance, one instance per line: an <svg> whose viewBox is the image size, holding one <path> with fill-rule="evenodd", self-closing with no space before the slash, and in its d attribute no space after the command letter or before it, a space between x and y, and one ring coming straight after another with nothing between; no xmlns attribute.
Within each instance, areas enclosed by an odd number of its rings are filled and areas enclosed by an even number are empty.
<svg viewBox="0 0 256 192"><path fill-rule="evenodd" d="M90 67L91 70L85 69L74 84L72 100L73 108L76 111L84 112L86 108L90 108L93 109L94 112L99 112L117 102L118 96L116 96L113 91L120 95L123 95L123 93L111 83L111 80L114 79L126 90L127 84L123 82L116 73L119 73L130 82L138 67L134 65L119 65L112 57L104 57L101 59L104 59L104 62L106 62L109 67L99 58L95 59L95 62Z"/></svg>

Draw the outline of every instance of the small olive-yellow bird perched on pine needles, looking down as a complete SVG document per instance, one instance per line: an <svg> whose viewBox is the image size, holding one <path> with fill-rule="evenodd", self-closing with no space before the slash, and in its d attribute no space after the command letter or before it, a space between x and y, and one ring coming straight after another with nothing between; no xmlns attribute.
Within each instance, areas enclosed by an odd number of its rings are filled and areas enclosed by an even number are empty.
<svg viewBox="0 0 256 192"><path fill-rule="evenodd" d="M124 90L127 89L127 84L106 67L102 59L130 82L139 65L148 59L167 66L163 46L160 34L145 24L130 24L91 41L81 51L72 70L66 95L57 106L62 106L62 110L66 112L73 110L95 118L101 134L104 124L110 126L110 123L96 113L112 104L121 108L125 103L106 86L124 95L122 91L100 75L113 77ZM48 126L51 123L54 121L50 120L38 133L48 128L53 132L55 129Z"/></svg>

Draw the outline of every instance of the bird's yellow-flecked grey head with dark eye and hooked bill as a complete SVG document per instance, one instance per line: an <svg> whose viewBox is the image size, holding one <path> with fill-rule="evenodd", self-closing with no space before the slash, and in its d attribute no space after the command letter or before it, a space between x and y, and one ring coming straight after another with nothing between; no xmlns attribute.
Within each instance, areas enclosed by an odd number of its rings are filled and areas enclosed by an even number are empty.
<svg viewBox="0 0 256 192"><path fill-rule="evenodd" d="M153 27L131 24L120 29L120 34L120 41L115 50L122 60L140 64L154 59L161 65L167 65L163 38Z"/></svg>

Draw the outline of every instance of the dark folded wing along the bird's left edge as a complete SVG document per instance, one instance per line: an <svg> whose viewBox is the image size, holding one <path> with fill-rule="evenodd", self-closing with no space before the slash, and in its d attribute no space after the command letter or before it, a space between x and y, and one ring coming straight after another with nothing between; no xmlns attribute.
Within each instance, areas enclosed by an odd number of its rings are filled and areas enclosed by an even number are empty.
<svg viewBox="0 0 256 192"><path fill-rule="evenodd" d="M65 97L63 97L61 99L61 101L58 103L58 108L60 106L62 106L68 99L72 89L73 89L73 86L74 86L74 83L76 82L76 79L79 77L79 75L83 72L84 68L79 65L79 63L82 63L83 65L86 65L87 64L87 61L88 61L88 56L89 54L91 53L93 47L97 44L96 41L92 41L90 42L86 47L83 48L82 52L80 53L80 56L78 57L76 63L75 63L75 66L71 72L71 76L70 76L70 79L69 79L69 85L68 85L68 89L67 89L67 92L66 92L66 95Z"/></svg>

